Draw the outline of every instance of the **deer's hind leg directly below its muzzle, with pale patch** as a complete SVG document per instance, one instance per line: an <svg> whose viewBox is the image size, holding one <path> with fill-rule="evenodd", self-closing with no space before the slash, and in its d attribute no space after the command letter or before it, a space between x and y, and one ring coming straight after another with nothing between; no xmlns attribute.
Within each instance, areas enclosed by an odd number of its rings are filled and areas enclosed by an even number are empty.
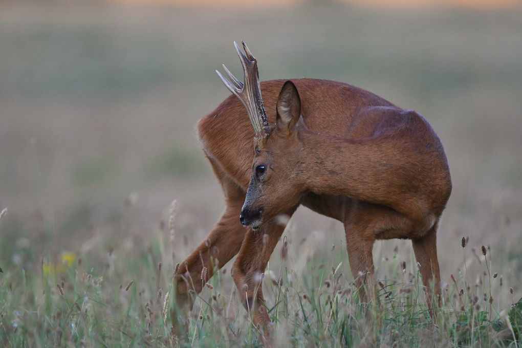
<svg viewBox="0 0 522 348"><path fill-rule="evenodd" d="M293 208L288 211L292 215ZM284 225L274 220L267 222L258 231L248 232L232 268L232 277L238 287L242 302L251 315L254 326L263 330L263 338L269 337L270 317L265 308L262 280L270 256L279 241Z"/></svg>

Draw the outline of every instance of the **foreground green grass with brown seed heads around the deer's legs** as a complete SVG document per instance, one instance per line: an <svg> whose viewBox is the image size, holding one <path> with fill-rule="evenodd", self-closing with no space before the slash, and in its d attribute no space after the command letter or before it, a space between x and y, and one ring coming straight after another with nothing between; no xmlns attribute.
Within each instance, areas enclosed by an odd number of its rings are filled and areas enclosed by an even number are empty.
<svg viewBox="0 0 522 348"><path fill-rule="evenodd" d="M125 209L132 210L133 203L128 200ZM10 224L4 220L2 231ZM175 221L170 219L169 225L175 227ZM126 226L121 221L115 226L120 232L99 243L104 247L81 256L79 251L62 251L55 257L34 255L28 240L19 237L12 245L13 261L0 259L0 344L262 345L258 329L231 286L227 267L216 272L201 294L193 294L194 309L185 314L188 329L174 335L172 275L174 262L181 261L176 257L181 254L180 243L169 243L169 229L162 225L148 236L147 247L129 244ZM520 343L515 338L520 337L522 299L516 305L515 299L501 303L505 296L491 294L492 282L500 292L510 290L495 272L485 247L486 255L479 257L488 265L482 262L477 274L464 271L447 279L434 326L417 267L399 259L399 248L377 263L377 273L387 274L376 284L378 300L361 303L353 278L344 272L348 265L343 248L333 246L326 255L314 256L316 239L317 233L312 233L292 245L285 238L280 257L265 272L262 282L277 346L508 347ZM469 244L464 252L464 258L473 253Z"/></svg>

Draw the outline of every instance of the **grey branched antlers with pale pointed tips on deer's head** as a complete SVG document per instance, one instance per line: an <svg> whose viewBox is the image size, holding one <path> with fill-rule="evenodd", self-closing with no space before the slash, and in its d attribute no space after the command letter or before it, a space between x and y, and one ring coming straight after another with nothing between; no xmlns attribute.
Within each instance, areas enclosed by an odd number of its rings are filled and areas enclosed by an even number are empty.
<svg viewBox="0 0 522 348"><path fill-rule="evenodd" d="M263 105L263 98L261 97L261 86L259 84L259 72L257 71L257 59L252 55L244 41L243 49L246 56L241 51L238 44L234 41L235 50L238 51L239 59L243 64L244 83L238 80L226 66L223 65L227 73L227 79L216 70L224 85L245 105L250 122L254 127L256 138L263 138L269 134L268 119L266 117L265 105Z"/></svg>

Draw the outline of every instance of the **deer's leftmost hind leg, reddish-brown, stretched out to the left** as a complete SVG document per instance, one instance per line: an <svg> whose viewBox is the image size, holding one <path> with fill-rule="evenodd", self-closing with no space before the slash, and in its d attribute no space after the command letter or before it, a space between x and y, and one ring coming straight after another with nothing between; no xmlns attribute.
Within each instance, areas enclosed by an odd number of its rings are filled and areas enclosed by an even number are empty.
<svg viewBox="0 0 522 348"><path fill-rule="evenodd" d="M204 283L213 272L224 266L240 250L246 229L239 222L241 207L245 199L244 191L227 177L214 170L221 181L226 196L226 208L213 229L194 251L180 263L175 274L177 308L175 321L184 321L187 310L192 308L193 300L190 291L201 292ZM206 278L201 279L201 271L207 268ZM180 318L181 317L181 318ZM180 322L175 323L180 331ZM178 332L179 333L179 332Z"/></svg>

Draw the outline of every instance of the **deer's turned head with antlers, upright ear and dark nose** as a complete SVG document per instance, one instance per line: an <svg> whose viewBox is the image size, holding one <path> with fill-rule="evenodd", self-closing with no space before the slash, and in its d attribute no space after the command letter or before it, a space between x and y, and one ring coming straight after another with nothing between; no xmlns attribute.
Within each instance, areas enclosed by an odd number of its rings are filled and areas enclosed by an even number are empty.
<svg viewBox="0 0 522 348"><path fill-rule="evenodd" d="M299 204L306 191L306 165L300 130L301 100L291 81L284 83L277 100L276 124L269 125L266 117L257 59L244 42L243 48L234 42L243 64L244 82L235 78L223 65L230 80L216 70L224 85L243 103L254 127L254 161L252 177L246 192L240 221L257 230L266 221Z"/></svg>

